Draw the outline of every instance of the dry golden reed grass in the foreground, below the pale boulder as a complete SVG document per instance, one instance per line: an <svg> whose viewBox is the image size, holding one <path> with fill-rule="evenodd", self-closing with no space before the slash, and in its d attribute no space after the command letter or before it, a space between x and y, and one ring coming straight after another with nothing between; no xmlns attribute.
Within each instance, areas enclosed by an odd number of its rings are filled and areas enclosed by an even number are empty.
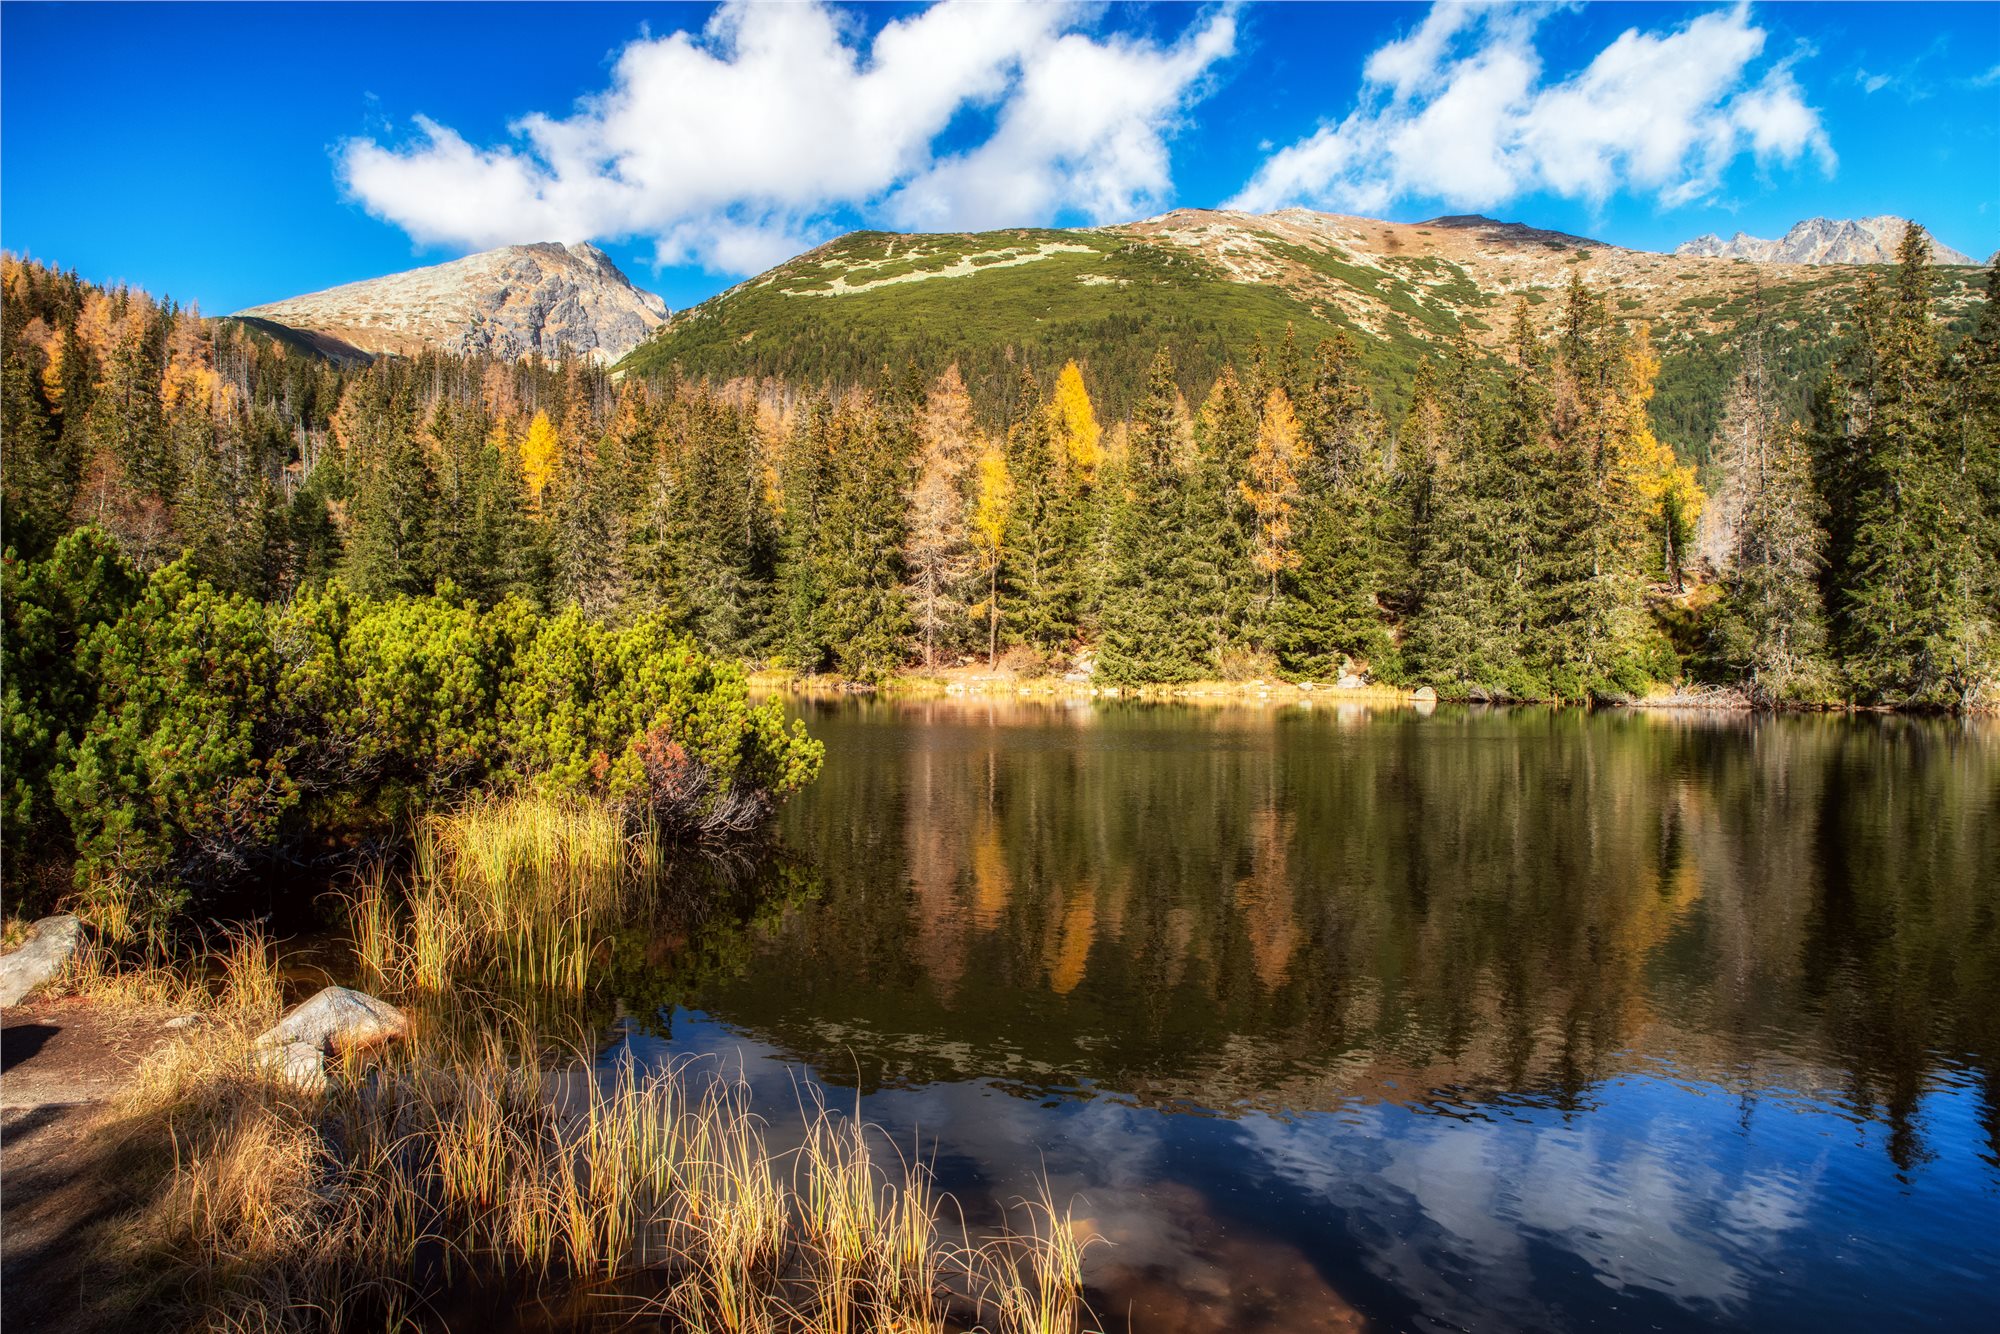
<svg viewBox="0 0 2000 1334"><path fill-rule="evenodd" d="M428 1326L484 1284L682 1330L1076 1330L1078 1240L1052 1204L1022 1232L948 1232L928 1172L850 1118L774 1152L744 1084L694 1068L550 1072L508 1018L458 1018L324 1100L246 1052L134 1094L174 1172L150 1216L166 1312L200 1328ZM362 1072L356 1070L356 1076Z"/></svg>

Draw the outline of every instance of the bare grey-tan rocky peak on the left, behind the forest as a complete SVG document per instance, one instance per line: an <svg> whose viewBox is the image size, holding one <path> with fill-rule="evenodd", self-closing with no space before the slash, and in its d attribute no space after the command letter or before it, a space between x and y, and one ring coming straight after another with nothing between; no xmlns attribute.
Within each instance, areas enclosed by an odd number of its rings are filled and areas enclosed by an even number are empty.
<svg viewBox="0 0 2000 1334"><path fill-rule="evenodd" d="M250 306L234 318L336 360L426 346L518 358L562 350L618 360L668 310L590 244L504 246L404 274ZM276 328L272 328L276 326Z"/></svg>

